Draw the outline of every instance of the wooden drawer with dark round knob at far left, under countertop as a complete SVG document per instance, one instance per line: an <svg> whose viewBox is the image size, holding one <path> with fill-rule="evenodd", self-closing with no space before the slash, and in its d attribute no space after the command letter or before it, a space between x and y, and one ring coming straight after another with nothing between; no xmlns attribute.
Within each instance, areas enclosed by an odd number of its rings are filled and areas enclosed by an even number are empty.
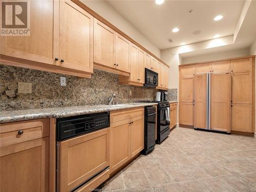
<svg viewBox="0 0 256 192"><path fill-rule="evenodd" d="M23 132L21 135L18 132ZM49 118L1 124L0 147L49 136Z"/></svg>

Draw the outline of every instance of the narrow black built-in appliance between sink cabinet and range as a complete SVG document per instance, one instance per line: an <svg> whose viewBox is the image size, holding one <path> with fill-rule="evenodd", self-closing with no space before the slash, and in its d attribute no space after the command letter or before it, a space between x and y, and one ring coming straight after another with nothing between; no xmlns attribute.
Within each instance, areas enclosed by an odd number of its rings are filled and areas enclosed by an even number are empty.
<svg viewBox="0 0 256 192"><path fill-rule="evenodd" d="M145 106L144 118L144 150L143 155L147 155L154 150L156 145L156 107Z"/></svg>

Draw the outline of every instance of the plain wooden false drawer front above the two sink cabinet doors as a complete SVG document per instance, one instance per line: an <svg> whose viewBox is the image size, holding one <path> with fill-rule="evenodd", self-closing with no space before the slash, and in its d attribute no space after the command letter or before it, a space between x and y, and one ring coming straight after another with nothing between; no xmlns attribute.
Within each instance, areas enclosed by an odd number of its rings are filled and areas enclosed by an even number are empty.
<svg viewBox="0 0 256 192"><path fill-rule="evenodd" d="M138 116L144 116L144 108L114 111L110 113L110 123L131 119Z"/></svg>

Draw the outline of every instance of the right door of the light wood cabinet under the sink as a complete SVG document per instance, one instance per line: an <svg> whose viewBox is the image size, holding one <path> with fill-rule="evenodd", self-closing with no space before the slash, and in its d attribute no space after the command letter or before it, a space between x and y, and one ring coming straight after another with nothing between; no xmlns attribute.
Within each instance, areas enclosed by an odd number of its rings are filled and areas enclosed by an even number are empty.
<svg viewBox="0 0 256 192"><path fill-rule="evenodd" d="M131 124L131 158L144 149L144 116L132 120Z"/></svg>

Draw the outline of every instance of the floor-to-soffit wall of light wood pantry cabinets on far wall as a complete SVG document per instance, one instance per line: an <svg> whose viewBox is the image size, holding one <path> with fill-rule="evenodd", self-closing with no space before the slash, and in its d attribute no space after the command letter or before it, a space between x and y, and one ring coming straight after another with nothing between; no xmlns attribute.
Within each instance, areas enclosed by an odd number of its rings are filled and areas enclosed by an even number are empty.
<svg viewBox="0 0 256 192"><path fill-rule="evenodd" d="M180 126L206 126L206 74L210 75L209 129L254 132L255 56L179 66Z"/></svg>

